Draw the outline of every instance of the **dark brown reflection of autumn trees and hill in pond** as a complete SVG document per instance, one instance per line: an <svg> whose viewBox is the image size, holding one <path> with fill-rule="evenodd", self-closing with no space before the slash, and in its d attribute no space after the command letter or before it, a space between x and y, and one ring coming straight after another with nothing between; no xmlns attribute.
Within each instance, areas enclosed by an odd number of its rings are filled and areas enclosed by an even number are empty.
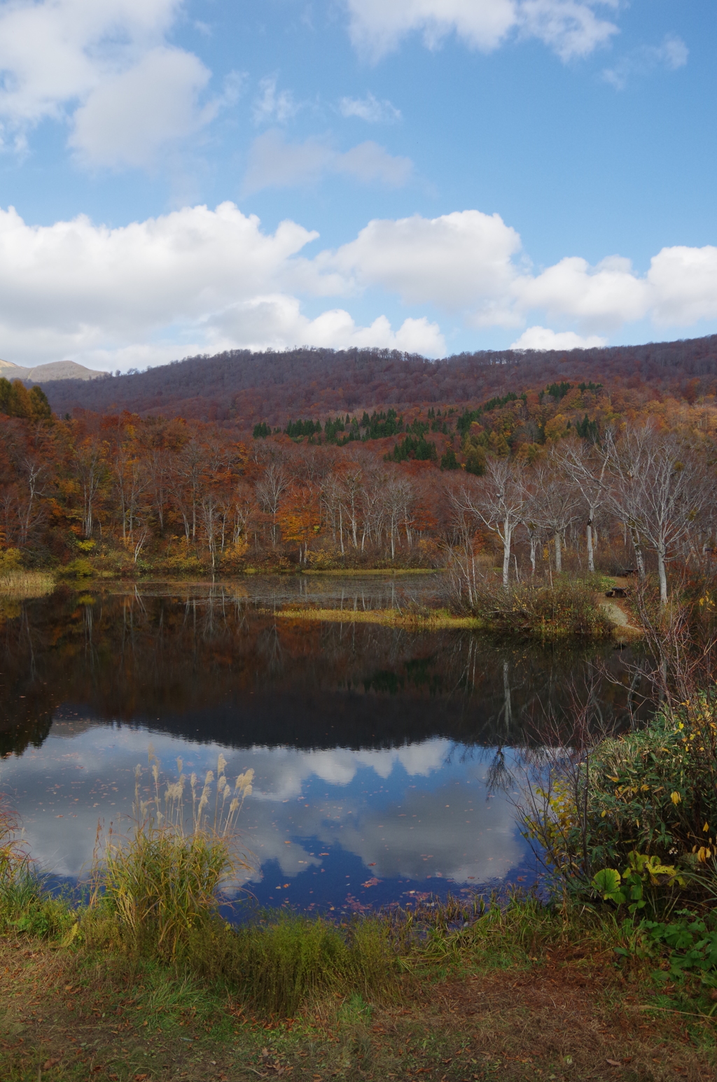
<svg viewBox="0 0 717 1082"><path fill-rule="evenodd" d="M361 593L347 592L352 607L362 604ZM601 724L624 724L628 695L643 691L635 685L630 692L631 677L611 649L277 621L265 604L259 608L221 584L184 595L135 590L82 601L57 593L6 620L5 728L30 716L29 701L35 717L64 701L100 717L153 723L204 712L208 734L212 712L233 710L232 733L246 741L363 747L442 735L503 747L520 743L546 703L568 722L573 704L565 688L586 683L596 659L615 681L601 679L594 691Z"/></svg>

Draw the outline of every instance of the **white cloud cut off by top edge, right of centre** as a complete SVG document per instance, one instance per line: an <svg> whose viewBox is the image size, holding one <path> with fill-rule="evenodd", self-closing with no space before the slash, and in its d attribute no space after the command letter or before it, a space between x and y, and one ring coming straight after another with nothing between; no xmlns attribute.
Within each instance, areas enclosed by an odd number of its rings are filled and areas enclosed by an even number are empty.
<svg viewBox="0 0 717 1082"><path fill-rule="evenodd" d="M617 27L595 9L616 0L347 0L350 32L362 52L378 60L407 34L429 49L455 34L472 49L492 52L512 32L545 42L563 61L605 44Z"/></svg>

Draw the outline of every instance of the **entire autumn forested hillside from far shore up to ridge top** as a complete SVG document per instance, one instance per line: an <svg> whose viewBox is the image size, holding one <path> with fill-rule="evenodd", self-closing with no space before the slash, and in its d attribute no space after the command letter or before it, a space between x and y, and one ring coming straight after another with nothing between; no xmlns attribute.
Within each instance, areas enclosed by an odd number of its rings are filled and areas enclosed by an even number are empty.
<svg viewBox="0 0 717 1082"><path fill-rule="evenodd" d="M717 337L0 380L0 558L78 577L478 558L504 583L635 567L666 596L670 564L714 547L716 396Z"/></svg>

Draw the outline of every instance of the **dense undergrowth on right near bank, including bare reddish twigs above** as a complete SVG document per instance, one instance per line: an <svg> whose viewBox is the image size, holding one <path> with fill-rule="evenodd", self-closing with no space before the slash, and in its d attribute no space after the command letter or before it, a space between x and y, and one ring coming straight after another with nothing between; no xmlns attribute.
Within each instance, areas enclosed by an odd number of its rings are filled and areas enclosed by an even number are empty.
<svg viewBox="0 0 717 1082"><path fill-rule="evenodd" d="M590 708L577 711L572 737L526 762L521 810L553 896L611 914L629 939L618 955L660 956L655 979L706 994L717 989L717 638L714 582L687 585L685 604L661 606L649 584L633 599L644 630L633 678L648 676L659 700L651 720L596 737Z"/></svg>

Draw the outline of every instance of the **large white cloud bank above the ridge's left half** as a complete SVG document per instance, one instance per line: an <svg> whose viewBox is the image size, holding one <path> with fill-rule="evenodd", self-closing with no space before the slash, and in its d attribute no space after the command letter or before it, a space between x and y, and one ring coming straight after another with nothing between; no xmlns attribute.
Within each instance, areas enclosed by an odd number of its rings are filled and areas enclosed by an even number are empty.
<svg viewBox="0 0 717 1082"><path fill-rule="evenodd" d="M0 211L0 342L16 362L71 356L139 367L232 346L379 345L441 356L434 321L386 316L363 327L343 308L313 319L296 256L316 234L295 222L264 233L233 203L109 229L80 216L29 226Z"/></svg>

